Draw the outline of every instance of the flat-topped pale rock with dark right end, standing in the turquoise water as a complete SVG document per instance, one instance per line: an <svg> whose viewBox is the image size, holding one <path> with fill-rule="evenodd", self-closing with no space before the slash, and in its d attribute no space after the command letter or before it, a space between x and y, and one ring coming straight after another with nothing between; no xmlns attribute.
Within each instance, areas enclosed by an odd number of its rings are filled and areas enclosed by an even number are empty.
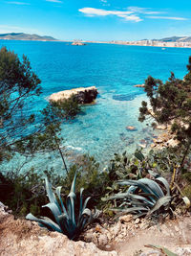
<svg viewBox="0 0 191 256"><path fill-rule="evenodd" d="M80 87L53 93L49 97L49 100L53 102L57 102L59 100L68 100L74 95L74 99L78 104L91 104L96 100L97 94L98 92L96 86Z"/></svg>

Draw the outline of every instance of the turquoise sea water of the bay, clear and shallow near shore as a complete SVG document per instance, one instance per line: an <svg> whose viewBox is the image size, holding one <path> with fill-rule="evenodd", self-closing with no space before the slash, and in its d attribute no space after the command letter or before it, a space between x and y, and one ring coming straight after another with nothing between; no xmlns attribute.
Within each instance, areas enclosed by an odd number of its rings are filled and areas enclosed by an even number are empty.
<svg viewBox="0 0 191 256"><path fill-rule="evenodd" d="M134 151L141 139L152 141L154 132L138 122L138 107L145 94L134 87L152 75L166 81L170 71L182 78L191 49L88 44L83 47L64 42L6 41L19 57L30 58L32 70L42 81L43 93L32 111L46 105L54 92L80 86L96 85L99 96L96 105L84 106L84 114L71 124L63 124L67 154L71 160L78 154L90 153L105 165L114 152ZM136 131L126 130L134 126ZM21 158L18 157L20 163ZM15 159L14 159L15 164ZM39 168L60 168L57 153L38 155L31 165Z"/></svg>

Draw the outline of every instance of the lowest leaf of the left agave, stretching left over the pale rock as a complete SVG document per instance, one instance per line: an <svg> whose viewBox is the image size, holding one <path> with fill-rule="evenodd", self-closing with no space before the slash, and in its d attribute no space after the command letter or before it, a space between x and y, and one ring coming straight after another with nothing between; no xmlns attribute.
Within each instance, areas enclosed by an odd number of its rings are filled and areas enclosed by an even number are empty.
<svg viewBox="0 0 191 256"><path fill-rule="evenodd" d="M30 221L37 221L39 223L41 223L41 225L45 226L45 227L49 227L59 233L62 233L62 230L60 229L59 225L56 224L55 222L53 222L51 219L47 218L47 217L44 217L42 219L39 219L39 218L36 218L34 217L31 213L28 214L26 216L26 219L27 220L30 220Z"/></svg>

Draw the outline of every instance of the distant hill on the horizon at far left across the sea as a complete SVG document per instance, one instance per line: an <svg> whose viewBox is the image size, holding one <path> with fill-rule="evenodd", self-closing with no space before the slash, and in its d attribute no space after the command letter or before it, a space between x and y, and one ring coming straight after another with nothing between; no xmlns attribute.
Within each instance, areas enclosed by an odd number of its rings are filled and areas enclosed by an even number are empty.
<svg viewBox="0 0 191 256"><path fill-rule="evenodd" d="M7 40L39 40L39 41L56 41L57 39L48 35L30 35L25 33L9 33L9 34L0 34L0 39Z"/></svg>

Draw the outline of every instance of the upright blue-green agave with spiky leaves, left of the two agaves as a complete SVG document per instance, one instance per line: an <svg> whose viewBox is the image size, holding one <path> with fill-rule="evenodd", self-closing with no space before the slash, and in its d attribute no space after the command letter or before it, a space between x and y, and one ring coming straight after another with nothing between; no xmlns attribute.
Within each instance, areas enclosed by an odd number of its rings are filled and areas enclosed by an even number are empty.
<svg viewBox="0 0 191 256"><path fill-rule="evenodd" d="M41 217L40 219L35 218L31 213L26 216L27 220L30 221L38 221L40 226L46 227L51 231L57 231L63 233L68 236L69 239L74 240L76 239L83 229L93 220L95 220L98 215L99 211L96 210L93 214L92 211L87 208L87 203L90 198L86 198L83 203L82 193L83 188L80 190L80 203L79 203L79 212L78 217L75 215L74 211L74 201L75 201L75 179L76 173L74 175L74 180L71 186L70 194L66 200L66 207L61 198L61 188L57 187L55 190L56 196L53 194L52 185L49 182L48 178L45 178L46 182L46 191L47 196L50 200L50 203L42 206L48 207L53 213L53 220L47 217Z"/></svg>

